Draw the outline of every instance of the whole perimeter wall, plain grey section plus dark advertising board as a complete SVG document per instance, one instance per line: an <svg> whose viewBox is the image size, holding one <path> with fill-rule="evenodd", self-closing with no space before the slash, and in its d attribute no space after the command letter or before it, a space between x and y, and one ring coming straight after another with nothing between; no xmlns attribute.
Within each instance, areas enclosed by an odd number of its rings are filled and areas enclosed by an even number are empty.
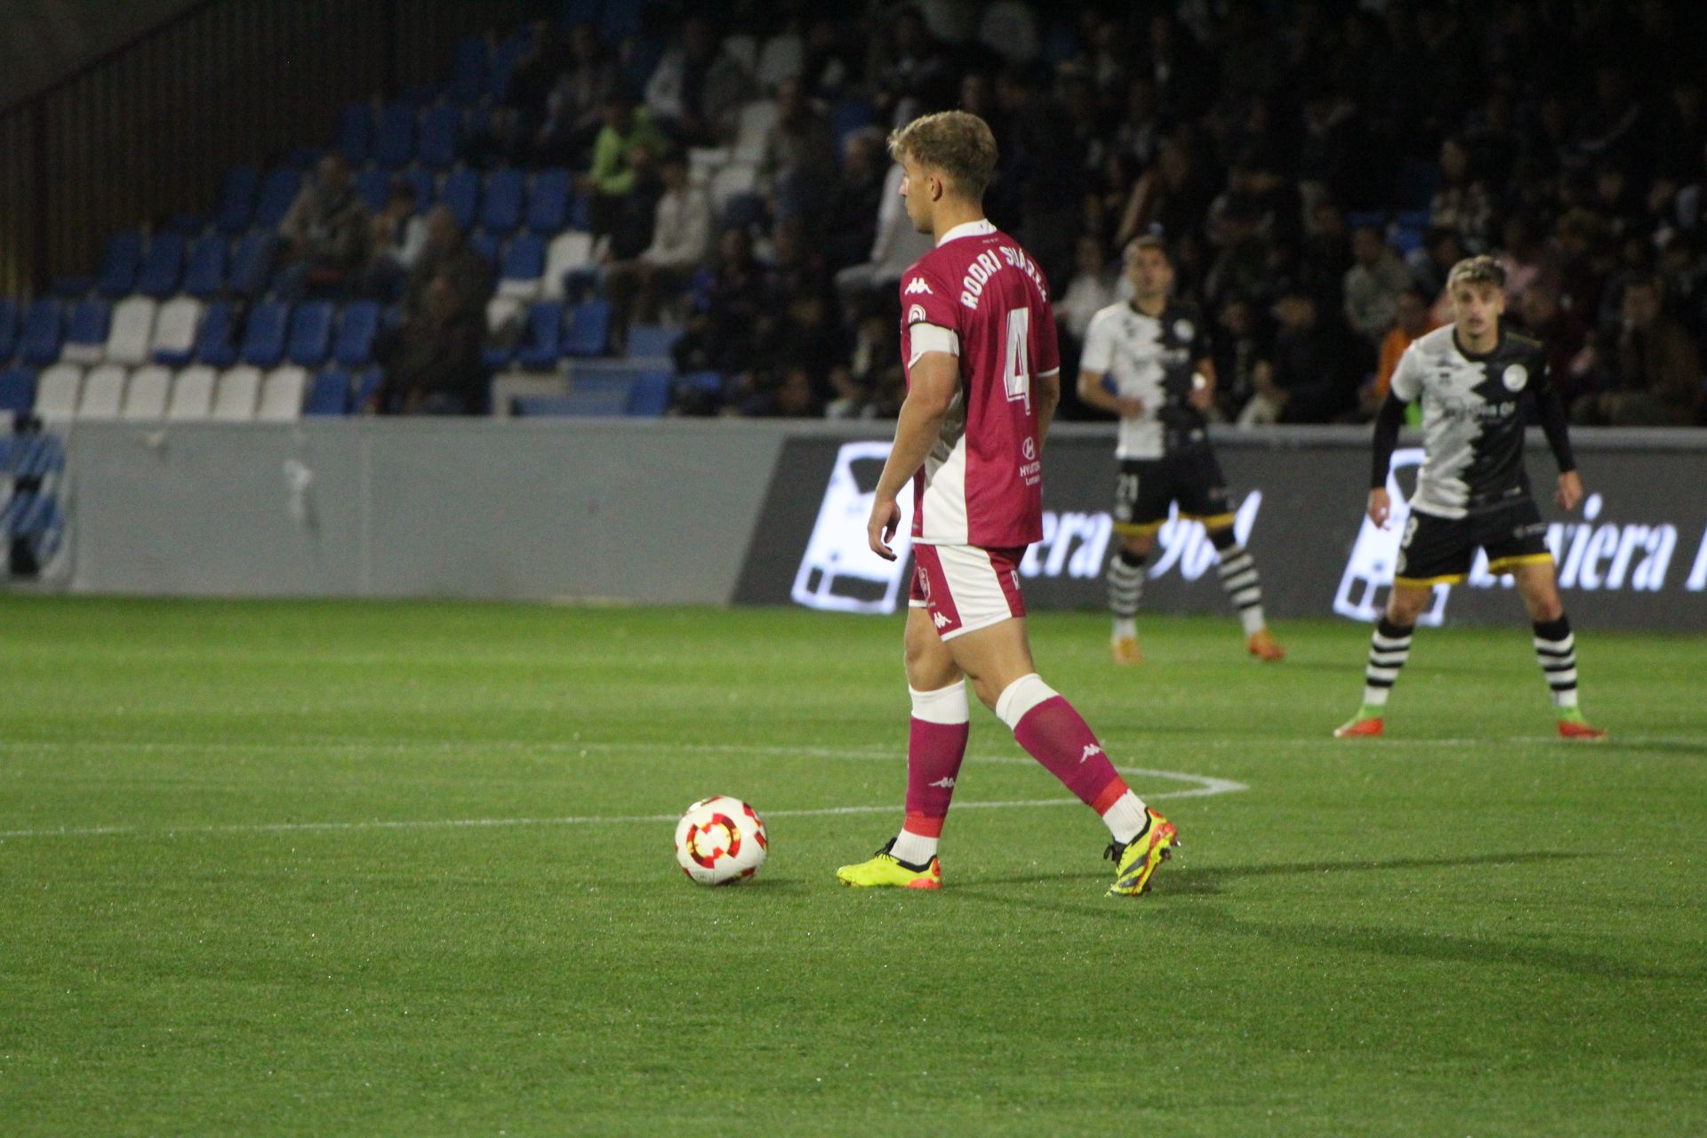
<svg viewBox="0 0 1707 1138"><path fill-rule="evenodd" d="M456 595L905 606L905 563L865 549L886 423L727 420L329 420L85 423L67 438L61 553L48 587L164 595ZM1584 508L1529 469L1581 626L1707 630L1707 433L1579 432ZM1403 517L1364 520L1366 428L1217 432L1277 618L1372 619ZM1401 444L1401 500L1420 452ZM1113 430L1060 425L1045 539L1021 573L1033 609L1103 606ZM1214 549L1157 536L1145 609L1224 613ZM1509 578L1478 560L1429 623L1506 623Z"/></svg>

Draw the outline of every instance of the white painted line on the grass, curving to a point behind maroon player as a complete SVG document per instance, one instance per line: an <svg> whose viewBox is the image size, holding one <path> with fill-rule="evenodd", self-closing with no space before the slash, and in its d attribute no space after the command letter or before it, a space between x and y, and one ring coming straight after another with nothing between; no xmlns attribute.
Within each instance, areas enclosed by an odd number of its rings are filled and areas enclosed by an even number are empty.
<svg viewBox="0 0 1707 1138"><path fill-rule="evenodd" d="M101 744L94 744L101 746ZM135 744L154 746L154 744ZM169 744L160 744L169 747ZM290 749L288 744L265 744L268 749ZM360 746L360 744L350 744ZM480 747L483 744L457 744ZM536 744L517 744L533 747ZM558 747L601 747L601 749L642 749L640 744L556 744ZM179 751L188 747L176 747ZM833 751L821 747L737 747L732 744L702 744L678 747L681 751L736 751L743 754L799 754L823 759L877 759L898 758L893 751ZM1012 754L966 756L970 763L1000 763L1031 766L1033 759ZM1133 778L1169 778L1176 781L1197 783L1188 790L1164 790L1149 793L1145 800L1161 798L1203 798L1210 795L1238 793L1250 790L1244 783L1212 775L1190 775L1185 771L1157 771L1140 766L1120 766L1121 775ZM1077 798L1016 798L1009 802L956 802L956 810L1005 810L1022 807L1079 805ZM896 802L883 805L831 805L807 810L763 810L765 817L830 817L836 814L888 814L900 809ZM623 826L638 822L674 822L679 814L611 814L611 816L563 816L563 817L447 817L447 819L406 819L406 821L362 821L362 822L227 822L217 826L65 826L56 829L5 829L0 841L10 838L109 838L109 836L167 836L167 834L278 834L278 833L318 833L318 831L358 831L358 829L481 829L500 826Z"/></svg>

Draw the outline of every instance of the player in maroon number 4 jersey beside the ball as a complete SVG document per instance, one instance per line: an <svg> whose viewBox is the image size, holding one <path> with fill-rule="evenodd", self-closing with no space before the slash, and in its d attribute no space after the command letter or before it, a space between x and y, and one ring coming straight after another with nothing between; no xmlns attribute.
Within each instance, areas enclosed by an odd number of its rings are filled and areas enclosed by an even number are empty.
<svg viewBox="0 0 1707 1138"><path fill-rule="evenodd" d="M871 548L894 560L898 496L913 483L906 613L906 817L845 885L939 889L937 838L966 754L966 679L1014 739L1108 824L1111 896L1137 896L1178 843L1115 771L1067 700L1038 676L1019 560L1041 539L1041 462L1060 403L1048 288L1019 242L983 217L995 138L975 114L913 119L889 138L906 215L935 249L901 275L906 401L877 479Z"/></svg>

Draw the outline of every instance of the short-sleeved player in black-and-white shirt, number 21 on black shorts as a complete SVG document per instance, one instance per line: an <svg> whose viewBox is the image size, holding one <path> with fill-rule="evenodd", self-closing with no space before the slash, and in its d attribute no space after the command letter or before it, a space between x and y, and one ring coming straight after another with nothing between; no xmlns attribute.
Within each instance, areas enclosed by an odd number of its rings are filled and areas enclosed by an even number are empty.
<svg viewBox="0 0 1707 1138"><path fill-rule="evenodd" d="M1219 558L1217 573L1239 609L1246 648L1263 660L1285 653L1263 619L1263 589L1256 563L1232 534L1221 462L1209 444L1203 409L1215 394L1209 321L1197 305L1174 300L1173 263L1161 237L1127 246L1132 300L1091 317L1079 362L1079 398L1120 416L1115 457L1115 532L1120 548L1108 563L1108 607L1115 614L1116 664L1137 664L1137 613L1144 594L1144 563L1168 507L1203 524Z"/></svg>

